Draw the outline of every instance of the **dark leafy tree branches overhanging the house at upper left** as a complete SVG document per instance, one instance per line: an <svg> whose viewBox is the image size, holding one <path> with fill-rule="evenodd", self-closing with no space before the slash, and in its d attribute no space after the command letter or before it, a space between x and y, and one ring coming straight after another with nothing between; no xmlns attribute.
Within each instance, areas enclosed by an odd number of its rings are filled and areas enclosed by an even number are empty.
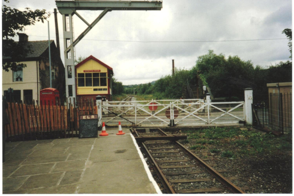
<svg viewBox="0 0 294 196"><path fill-rule="evenodd" d="M9 2L8 0L4 0ZM24 47L24 43L16 43L12 40L18 35L15 31L23 31L25 26L34 25L36 22L43 22L50 16L43 10L31 10L25 8L25 11L12 9L6 5L2 6L2 57L11 58L13 62L2 61L2 69L5 71L17 70L19 66L25 67L25 64L19 63L27 54L31 53L29 47Z"/></svg>

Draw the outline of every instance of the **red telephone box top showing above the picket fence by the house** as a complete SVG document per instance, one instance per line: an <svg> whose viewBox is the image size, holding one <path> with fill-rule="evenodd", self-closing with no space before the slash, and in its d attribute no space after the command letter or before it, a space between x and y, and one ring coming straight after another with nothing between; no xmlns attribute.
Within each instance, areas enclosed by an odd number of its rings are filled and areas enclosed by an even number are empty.
<svg viewBox="0 0 294 196"><path fill-rule="evenodd" d="M48 105L48 103L52 105L52 101L53 105L59 103L59 91L55 88L44 88L40 90L40 103L45 105L45 101L46 105Z"/></svg>

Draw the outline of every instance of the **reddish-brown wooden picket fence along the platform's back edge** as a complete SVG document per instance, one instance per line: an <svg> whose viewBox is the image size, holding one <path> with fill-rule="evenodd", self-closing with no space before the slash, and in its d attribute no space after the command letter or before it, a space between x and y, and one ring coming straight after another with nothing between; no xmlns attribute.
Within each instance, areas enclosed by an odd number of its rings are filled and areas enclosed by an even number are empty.
<svg viewBox="0 0 294 196"><path fill-rule="evenodd" d="M6 141L25 141L77 137L79 115L97 114L97 107L76 106L68 100L64 105L41 105L33 101L31 105L7 103L6 113L10 120L5 126Z"/></svg>

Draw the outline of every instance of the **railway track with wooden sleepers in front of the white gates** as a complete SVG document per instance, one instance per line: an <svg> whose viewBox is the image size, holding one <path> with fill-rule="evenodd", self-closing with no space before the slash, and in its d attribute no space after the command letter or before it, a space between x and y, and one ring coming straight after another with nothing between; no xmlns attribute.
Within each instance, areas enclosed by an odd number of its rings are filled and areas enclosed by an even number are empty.
<svg viewBox="0 0 294 196"><path fill-rule="evenodd" d="M130 129L136 137L171 136L161 129ZM169 194L245 193L195 153L177 141L151 140L141 143L146 155Z"/></svg>

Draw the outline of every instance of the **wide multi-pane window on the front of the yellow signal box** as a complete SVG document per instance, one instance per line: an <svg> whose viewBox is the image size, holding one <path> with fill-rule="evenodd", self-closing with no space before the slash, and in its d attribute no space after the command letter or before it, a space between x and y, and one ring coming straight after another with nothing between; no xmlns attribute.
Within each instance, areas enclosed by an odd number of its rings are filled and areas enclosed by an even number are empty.
<svg viewBox="0 0 294 196"><path fill-rule="evenodd" d="M107 86L106 73L78 73L77 86L78 87L106 87Z"/></svg>

